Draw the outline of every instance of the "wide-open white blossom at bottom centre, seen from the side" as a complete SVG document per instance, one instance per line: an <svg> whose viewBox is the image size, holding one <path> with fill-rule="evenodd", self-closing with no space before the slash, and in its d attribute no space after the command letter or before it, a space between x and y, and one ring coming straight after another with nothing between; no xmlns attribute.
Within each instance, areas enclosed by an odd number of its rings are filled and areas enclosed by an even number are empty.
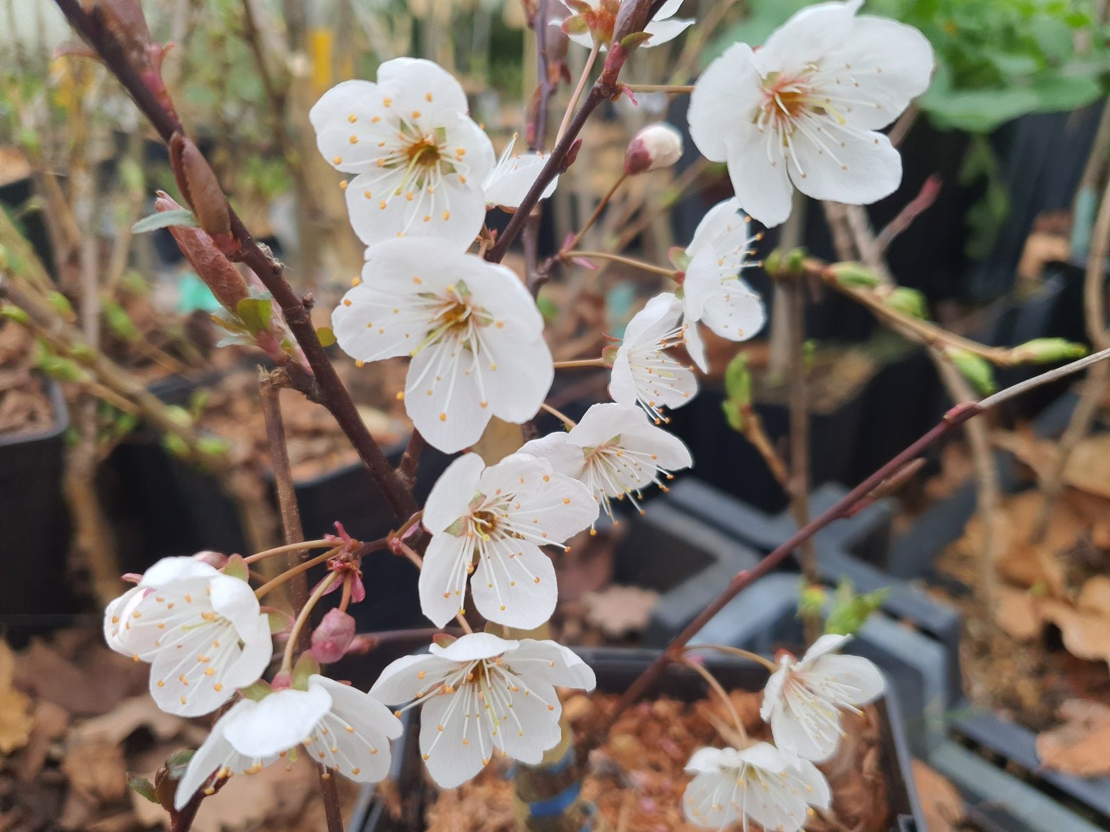
<svg viewBox="0 0 1110 832"><path fill-rule="evenodd" d="M536 764L559 741L555 686L593 690L594 671L554 641L463 636L430 655L405 656L384 671L371 696L421 706L420 748L445 789L470 780L495 751Z"/></svg>

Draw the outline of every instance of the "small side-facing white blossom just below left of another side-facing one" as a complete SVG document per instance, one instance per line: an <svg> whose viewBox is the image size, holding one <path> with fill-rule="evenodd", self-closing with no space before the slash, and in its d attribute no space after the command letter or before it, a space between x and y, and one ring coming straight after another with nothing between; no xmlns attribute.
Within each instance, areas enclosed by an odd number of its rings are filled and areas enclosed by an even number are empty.
<svg viewBox="0 0 1110 832"><path fill-rule="evenodd" d="M675 295L656 295L628 322L613 359L613 400L638 404L656 425L665 420L663 408L682 407L697 393L694 373L666 354L683 342L682 316L683 302Z"/></svg>

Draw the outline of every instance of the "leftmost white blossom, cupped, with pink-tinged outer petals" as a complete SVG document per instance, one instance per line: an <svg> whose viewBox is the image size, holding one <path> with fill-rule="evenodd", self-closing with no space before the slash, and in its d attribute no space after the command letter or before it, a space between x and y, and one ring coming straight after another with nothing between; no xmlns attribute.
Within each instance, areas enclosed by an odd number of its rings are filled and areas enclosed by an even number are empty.
<svg viewBox="0 0 1110 832"><path fill-rule="evenodd" d="M250 585L194 558L163 558L104 610L109 647L150 662L150 692L168 713L199 717L262 676L270 620Z"/></svg>

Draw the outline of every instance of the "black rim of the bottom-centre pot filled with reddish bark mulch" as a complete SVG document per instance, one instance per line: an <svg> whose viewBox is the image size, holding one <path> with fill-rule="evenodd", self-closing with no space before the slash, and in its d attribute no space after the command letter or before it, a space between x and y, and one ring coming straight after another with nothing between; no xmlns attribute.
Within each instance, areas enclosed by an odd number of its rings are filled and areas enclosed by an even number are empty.
<svg viewBox="0 0 1110 832"><path fill-rule="evenodd" d="M579 648L576 652L593 668L597 677L597 690L619 693L628 689L632 682L657 657L654 650L620 649L620 648ZM709 670L727 689L760 690L767 683L767 671L750 662L740 660L709 660ZM675 699L694 701L705 696L705 682L694 671L672 664L664 677L653 686L645 698L667 696ZM917 792L914 788L912 769L909 752L901 731L898 703L889 692L876 702L882 724L881 753L882 770L887 773L888 800L891 816L888 829L891 832L902 830L925 830L918 805ZM417 720L413 720L417 722ZM404 738L394 748L394 773L400 775L398 791L405 795L411 808L407 822L395 821L385 811L380 801L373 800L373 787L364 791L360 805L365 811L356 813L349 825L350 832L417 832L422 830L423 810L432 798L432 790L425 783L420 769L417 751L416 726L408 726ZM415 764L414 764L415 762Z"/></svg>

